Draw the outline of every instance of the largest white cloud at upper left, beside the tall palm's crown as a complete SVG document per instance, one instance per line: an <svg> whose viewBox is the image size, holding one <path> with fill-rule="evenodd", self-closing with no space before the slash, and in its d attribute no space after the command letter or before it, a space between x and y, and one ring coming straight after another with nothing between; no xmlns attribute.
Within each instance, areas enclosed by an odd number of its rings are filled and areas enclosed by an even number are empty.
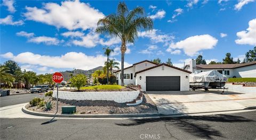
<svg viewBox="0 0 256 140"><path fill-rule="evenodd" d="M57 28L94 29L99 19L104 15L89 4L79 1L64 1L61 5L57 3L46 3L42 8L25 7L27 12L24 16L27 20L53 25Z"/></svg>

